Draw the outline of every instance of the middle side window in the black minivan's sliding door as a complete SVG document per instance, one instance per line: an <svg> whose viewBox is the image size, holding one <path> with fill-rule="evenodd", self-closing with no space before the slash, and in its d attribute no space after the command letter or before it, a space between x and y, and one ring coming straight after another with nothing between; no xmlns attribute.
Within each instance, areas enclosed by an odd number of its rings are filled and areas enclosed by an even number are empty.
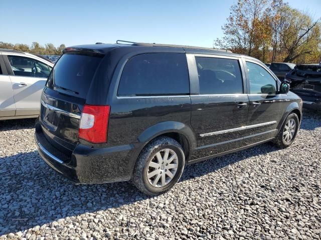
<svg viewBox="0 0 321 240"><path fill-rule="evenodd" d="M243 80L238 60L219 57L195 57L200 94L243 93Z"/></svg>

